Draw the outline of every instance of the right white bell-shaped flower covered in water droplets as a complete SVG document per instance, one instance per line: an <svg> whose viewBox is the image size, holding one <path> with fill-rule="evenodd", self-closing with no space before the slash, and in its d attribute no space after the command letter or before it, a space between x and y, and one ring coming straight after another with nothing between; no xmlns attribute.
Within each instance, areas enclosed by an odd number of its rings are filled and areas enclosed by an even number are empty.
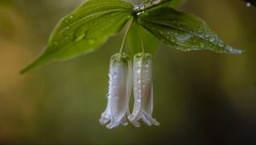
<svg viewBox="0 0 256 145"><path fill-rule="evenodd" d="M160 125L156 119L152 118L152 61L152 55L143 53L135 55L133 60L134 108L128 119L137 127L140 126L139 119L147 125Z"/></svg>

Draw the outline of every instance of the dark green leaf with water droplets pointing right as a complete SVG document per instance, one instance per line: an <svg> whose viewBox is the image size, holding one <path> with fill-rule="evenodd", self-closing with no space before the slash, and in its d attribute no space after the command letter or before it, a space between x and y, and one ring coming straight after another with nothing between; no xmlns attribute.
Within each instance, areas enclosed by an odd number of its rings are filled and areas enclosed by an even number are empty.
<svg viewBox="0 0 256 145"><path fill-rule="evenodd" d="M241 54L211 31L207 23L194 14L161 8L140 14L138 21L168 46L183 51L208 49L218 53Z"/></svg>

